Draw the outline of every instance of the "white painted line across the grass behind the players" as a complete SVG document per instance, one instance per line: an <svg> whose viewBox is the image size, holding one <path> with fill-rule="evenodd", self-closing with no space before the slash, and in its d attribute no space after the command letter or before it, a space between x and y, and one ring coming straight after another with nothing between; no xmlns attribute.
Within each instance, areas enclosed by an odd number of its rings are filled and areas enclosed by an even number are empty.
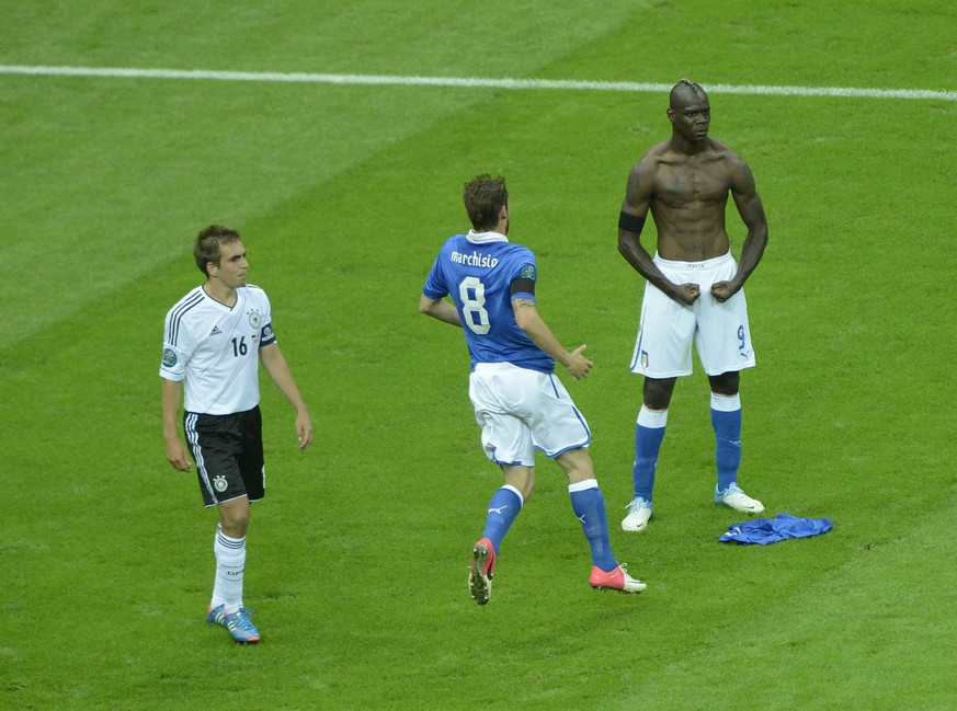
<svg viewBox="0 0 957 711"><path fill-rule="evenodd" d="M457 77L390 77L384 74L282 73L272 71L215 71L207 69L130 69L117 67L43 67L0 65L0 74L37 77L105 77L112 79L194 79L205 81L262 81L343 85L458 87L465 89L546 89L660 93L672 84L630 81L574 81L569 79L479 79ZM717 94L773 96L835 96L842 99L931 99L957 101L957 91L930 89L855 89L842 87L768 87L762 84L706 84Z"/></svg>

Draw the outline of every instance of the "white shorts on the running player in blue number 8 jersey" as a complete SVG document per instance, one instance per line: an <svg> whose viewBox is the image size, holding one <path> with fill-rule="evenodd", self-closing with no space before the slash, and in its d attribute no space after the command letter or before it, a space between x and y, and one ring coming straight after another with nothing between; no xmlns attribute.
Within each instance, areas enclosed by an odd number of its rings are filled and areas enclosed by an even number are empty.
<svg viewBox="0 0 957 711"><path fill-rule="evenodd" d="M482 448L498 465L534 467L535 449L558 457L591 441L584 416L552 374L479 363L468 379L468 397Z"/></svg>

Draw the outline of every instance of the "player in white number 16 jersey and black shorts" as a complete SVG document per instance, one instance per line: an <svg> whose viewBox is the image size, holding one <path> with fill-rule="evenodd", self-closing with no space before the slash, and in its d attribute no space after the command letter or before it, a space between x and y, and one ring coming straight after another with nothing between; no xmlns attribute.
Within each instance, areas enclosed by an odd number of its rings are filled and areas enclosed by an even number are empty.
<svg viewBox="0 0 957 711"><path fill-rule="evenodd" d="M216 578L206 612L237 642L260 639L242 601L250 502L265 494L259 364L296 409L299 449L312 441L312 423L272 329L265 291L247 284L249 262L239 232L213 225L196 237L196 266L206 276L167 313L163 334L163 436L167 459L180 471L196 462L207 507L219 509ZM183 399L183 429L176 414Z"/></svg>

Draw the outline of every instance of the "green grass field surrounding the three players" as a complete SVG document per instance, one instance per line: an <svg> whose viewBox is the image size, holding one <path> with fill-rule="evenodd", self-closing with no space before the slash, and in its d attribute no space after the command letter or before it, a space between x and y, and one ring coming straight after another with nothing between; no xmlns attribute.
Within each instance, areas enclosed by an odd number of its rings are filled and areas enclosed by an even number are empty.
<svg viewBox="0 0 957 711"><path fill-rule="evenodd" d="M0 0L0 708L957 708L955 36L943 0ZM617 527L642 283L615 225L669 134L664 91L10 67L725 87L711 131L751 164L771 234L747 287L742 484L834 530L717 542L741 515L709 503L700 369L672 403L654 520ZM588 586L542 459L491 604L468 598L500 474L462 335L417 305L481 172L509 180L546 320L596 363L567 382L640 596ZM215 513L161 436L162 319L210 222L243 233L317 424L299 455L264 387L251 647L204 621Z"/></svg>

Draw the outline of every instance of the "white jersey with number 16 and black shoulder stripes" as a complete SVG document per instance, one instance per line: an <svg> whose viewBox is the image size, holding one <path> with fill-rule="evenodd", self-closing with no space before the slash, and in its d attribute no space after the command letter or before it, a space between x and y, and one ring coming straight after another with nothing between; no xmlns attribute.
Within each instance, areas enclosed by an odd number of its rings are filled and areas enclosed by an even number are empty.
<svg viewBox="0 0 957 711"><path fill-rule="evenodd" d="M261 288L237 289L230 308L197 286L167 313L160 377L185 379L187 412L246 412L259 404L259 349L275 341Z"/></svg>

